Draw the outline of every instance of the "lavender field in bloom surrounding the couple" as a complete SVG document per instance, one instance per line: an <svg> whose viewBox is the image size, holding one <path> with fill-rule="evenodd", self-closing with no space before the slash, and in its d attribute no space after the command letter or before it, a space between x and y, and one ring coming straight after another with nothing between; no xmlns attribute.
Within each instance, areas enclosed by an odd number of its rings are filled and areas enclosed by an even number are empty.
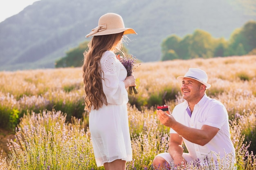
<svg viewBox="0 0 256 170"><path fill-rule="evenodd" d="M255 66L255 55L141 63L134 72L140 93L129 96L133 161L126 169L153 170L153 158L168 150L169 129L158 121L155 106L172 110L183 101L176 77L190 67L207 72L207 95L227 108L236 168L256 169ZM3 71L0 86L0 128L16 130L16 139L6 144L9 152L2 152L0 170L103 170L94 160L81 68ZM200 168L177 169L229 170L223 166L227 160L228 155Z"/></svg>

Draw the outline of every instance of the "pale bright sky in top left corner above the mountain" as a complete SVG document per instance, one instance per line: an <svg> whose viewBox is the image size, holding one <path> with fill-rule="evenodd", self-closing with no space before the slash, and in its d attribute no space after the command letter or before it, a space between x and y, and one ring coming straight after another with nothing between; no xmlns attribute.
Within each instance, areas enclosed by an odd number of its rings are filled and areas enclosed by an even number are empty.
<svg viewBox="0 0 256 170"><path fill-rule="evenodd" d="M22 11L38 0L0 0L0 22Z"/></svg>

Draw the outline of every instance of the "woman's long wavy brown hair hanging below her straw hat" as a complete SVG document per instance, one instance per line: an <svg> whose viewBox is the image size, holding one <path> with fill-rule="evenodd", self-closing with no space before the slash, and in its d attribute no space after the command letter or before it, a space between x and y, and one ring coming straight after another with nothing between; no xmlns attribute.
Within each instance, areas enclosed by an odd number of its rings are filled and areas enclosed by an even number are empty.
<svg viewBox="0 0 256 170"><path fill-rule="evenodd" d="M114 53L122 49L122 37L124 32L110 35L94 36L88 43L88 50L83 53L83 83L85 85L85 108L91 111L98 110L103 104L108 105L106 95L103 92L100 60L107 50Z"/></svg>

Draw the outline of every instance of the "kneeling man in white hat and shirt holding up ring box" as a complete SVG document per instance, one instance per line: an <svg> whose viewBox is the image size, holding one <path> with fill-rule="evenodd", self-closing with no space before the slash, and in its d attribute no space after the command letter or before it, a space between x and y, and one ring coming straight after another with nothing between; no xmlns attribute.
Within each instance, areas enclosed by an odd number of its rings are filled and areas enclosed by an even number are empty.
<svg viewBox="0 0 256 170"><path fill-rule="evenodd" d="M169 110L157 110L159 121L170 127L170 141L168 153L160 153L153 160L154 168L185 166L187 162L202 165L207 157L217 160L216 155L223 158L227 154L234 165L235 149L230 139L227 110L216 99L207 97L205 91L211 86L207 74L189 68L177 79L182 82L180 89L185 101L175 106L172 114ZM189 153L183 153L183 141Z"/></svg>

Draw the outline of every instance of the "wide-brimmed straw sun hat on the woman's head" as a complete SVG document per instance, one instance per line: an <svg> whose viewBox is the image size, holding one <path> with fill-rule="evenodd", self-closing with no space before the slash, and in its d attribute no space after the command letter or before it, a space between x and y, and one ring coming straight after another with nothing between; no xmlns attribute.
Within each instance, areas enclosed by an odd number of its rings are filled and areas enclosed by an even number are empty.
<svg viewBox="0 0 256 170"><path fill-rule="evenodd" d="M133 29L124 27L124 21L120 15L116 13L106 13L99 18L98 26L92 29L92 31L85 37L109 35L121 33L123 31L124 34L137 34Z"/></svg>

